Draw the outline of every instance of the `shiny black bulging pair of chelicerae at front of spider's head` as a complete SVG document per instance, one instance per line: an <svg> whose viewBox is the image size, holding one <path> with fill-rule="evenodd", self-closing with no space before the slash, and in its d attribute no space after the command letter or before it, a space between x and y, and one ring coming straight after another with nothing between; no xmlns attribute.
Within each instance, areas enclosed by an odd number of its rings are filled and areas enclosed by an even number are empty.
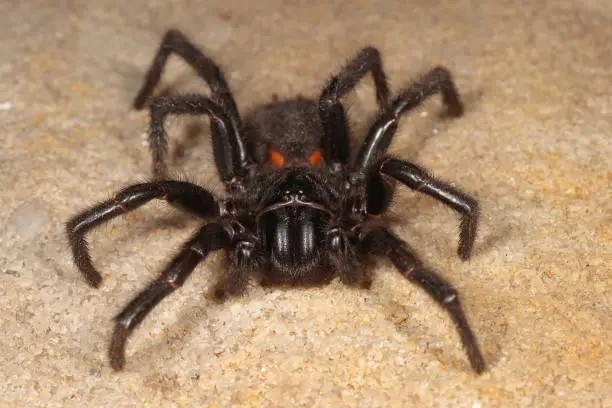
<svg viewBox="0 0 612 408"><path fill-rule="evenodd" d="M315 208L288 206L261 217L263 247L270 260L270 278L302 279L321 266L328 215Z"/></svg>

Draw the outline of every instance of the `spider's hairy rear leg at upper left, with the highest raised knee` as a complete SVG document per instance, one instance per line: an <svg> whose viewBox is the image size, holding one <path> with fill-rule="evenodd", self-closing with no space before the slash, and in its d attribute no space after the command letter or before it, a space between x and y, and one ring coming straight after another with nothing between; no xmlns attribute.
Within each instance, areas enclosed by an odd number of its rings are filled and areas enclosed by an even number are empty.
<svg viewBox="0 0 612 408"><path fill-rule="evenodd" d="M222 105L228 115L239 124L240 116L236 108L236 102L229 90L223 72L211 58L200 51L178 30L168 30L164 35L157 54L147 72L145 82L134 99L134 108L142 109L144 107L155 86L159 83L170 53L179 55L191 65L198 75L210 86L212 99Z"/></svg>

